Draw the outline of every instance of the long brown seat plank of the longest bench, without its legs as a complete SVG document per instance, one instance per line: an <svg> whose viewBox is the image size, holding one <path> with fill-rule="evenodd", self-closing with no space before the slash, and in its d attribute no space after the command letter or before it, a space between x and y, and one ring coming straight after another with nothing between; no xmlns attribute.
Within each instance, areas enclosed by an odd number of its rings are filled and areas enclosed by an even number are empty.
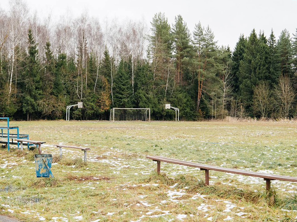
<svg viewBox="0 0 297 222"><path fill-rule="evenodd" d="M171 159L171 158L160 157L160 156L147 156L147 158L155 160L155 161L175 163L175 164L188 166L188 167L197 167L200 169L221 171L221 172L226 172L226 173L260 177L260 178L268 179L268 180L283 180L283 181L297 182L297 178L291 177L291 176L282 176L282 175L275 175L275 174L266 174L266 173L252 172L252 171L236 170L236 169L224 168L224 167L215 167L215 166L211 166L211 165L193 163L193 162L189 162L189 161L181 161L181 160L177 160L177 159Z"/></svg>

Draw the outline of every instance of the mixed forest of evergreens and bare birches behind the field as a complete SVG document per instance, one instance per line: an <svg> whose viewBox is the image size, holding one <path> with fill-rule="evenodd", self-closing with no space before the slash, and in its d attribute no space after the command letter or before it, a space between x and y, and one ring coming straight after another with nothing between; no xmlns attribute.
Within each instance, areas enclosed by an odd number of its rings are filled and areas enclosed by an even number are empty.
<svg viewBox="0 0 297 222"><path fill-rule="evenodd" d="M294 118L297 115L297 29L276 37L252 30L233 51L199 21L190 32L157 13L144 22L100 22L87 13L30 14L12 0L0 8L0 116L109 119L111 108L150 108L155 120Z"/></svg>

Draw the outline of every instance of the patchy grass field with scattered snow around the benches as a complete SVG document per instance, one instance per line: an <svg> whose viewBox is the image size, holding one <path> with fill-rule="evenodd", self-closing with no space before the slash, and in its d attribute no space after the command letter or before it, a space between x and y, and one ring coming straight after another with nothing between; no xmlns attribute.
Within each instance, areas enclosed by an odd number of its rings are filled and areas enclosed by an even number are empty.
<svg viewBox="0 0 297 222"><path fill-rule="evenodd" d="M0 210L23 221L295 221L297 183L156 163L146 155L297 176L297 124L289 122L11 122L46 141L54 179L36 178L33 152L1 150ZM57 143L87 146L83 152ZM201 181L202 180L202 181Z"/></svg>

